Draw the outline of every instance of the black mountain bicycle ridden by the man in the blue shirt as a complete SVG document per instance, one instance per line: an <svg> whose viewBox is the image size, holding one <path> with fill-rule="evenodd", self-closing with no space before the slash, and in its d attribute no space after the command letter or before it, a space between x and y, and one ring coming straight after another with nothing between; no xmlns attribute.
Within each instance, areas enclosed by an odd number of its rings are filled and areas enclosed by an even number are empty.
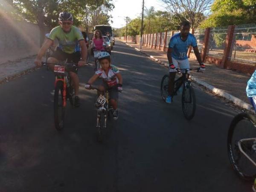
<svg viewBox="0 0 256 192"><path fill-rule="evenodd" d="M182 104L182 111L186 119L190 120L195 115L195 108L196 108L196 99L195 99L195 91L191 85L191 81L189 80L189 71L197 70L200 71L199 68L194 69L176 69L177 72L182 73L182 76L175 80L174 86L174 96L177 95L177 91L183 86L182 96L181 96L181 104ZM169 84L169 75L165 75L161 81L161 96L166 102L166 97L169 95L168 93L168 84Z"/></svg>

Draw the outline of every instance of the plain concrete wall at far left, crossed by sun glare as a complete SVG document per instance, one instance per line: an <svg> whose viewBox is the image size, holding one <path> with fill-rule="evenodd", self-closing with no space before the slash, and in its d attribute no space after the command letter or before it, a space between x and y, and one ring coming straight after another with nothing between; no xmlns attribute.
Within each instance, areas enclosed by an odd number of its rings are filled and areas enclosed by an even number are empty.
<svg viewBox="0 0 256 192"><path fill-rule="evenodd" d="M35 55L40 48L37 24L0 20L0 64Z"/></svg>

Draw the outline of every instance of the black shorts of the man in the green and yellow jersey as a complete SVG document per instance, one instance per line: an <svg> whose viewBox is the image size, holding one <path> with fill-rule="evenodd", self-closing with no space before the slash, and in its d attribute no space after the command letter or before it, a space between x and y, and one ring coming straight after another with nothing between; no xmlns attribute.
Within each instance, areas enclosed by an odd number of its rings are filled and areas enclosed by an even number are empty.
<svg viewBox="0 0 256 192"><path fill-rule="evenodd" d="M80 51L73 52L73 53L66 53L62 51L59 47L57 47L56 51L52 53L51 57L58 59L58 61L66 61L78 63L81 60L81 53ZM77 68L74 67L67 67L67 71L72 71L74 73L77 73Z"/></svg>

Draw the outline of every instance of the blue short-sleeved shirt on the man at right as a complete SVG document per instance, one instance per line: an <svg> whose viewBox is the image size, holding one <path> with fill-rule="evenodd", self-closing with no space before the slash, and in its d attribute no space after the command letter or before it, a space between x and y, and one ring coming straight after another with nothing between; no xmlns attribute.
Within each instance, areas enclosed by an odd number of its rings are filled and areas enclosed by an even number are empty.
<svg viewBox="0 0 256 192"><path fill-rule="evenodd" d="M186 41L180 37L180 33L173 35L169 42L169 48L172 48L172 57L177 60L187 59L189 46L197 47L195 36L189 33Z"/></svg>

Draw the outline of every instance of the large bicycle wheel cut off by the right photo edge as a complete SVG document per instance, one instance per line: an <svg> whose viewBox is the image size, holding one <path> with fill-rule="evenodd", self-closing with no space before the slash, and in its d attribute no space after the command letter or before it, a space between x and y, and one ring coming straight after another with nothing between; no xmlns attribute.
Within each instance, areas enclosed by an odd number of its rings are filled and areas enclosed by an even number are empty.
<svg viewBox="0 0 256 192"><path fill-rule="evenodd" d="M252 139L241 141L243 139ZM241 142L241 143L240 143ZM239 113L230 124L227 136L227 152L230 164L235 172L245 180L256 177L256 166L242 153L244 151L256 161L256 117L248 113Z"/></svg>

